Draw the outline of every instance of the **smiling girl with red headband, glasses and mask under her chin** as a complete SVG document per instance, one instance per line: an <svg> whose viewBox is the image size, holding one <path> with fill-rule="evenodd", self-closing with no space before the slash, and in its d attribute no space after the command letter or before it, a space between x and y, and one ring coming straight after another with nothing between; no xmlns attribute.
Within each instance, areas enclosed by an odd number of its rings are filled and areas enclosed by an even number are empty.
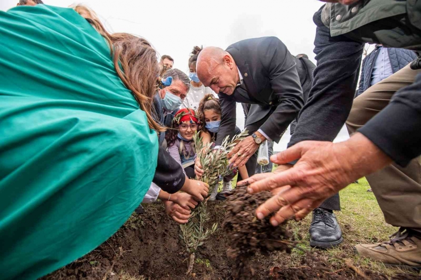
<svg viewBox="0 0 421 280"><path fill-rule="evenodd" d="M199 130L199 124L199 118L193 109L180 109L175 113L172 127L165 135L168 153L184 168L184 173L190 179L195 178L196 151L193 136Z"/></svg>

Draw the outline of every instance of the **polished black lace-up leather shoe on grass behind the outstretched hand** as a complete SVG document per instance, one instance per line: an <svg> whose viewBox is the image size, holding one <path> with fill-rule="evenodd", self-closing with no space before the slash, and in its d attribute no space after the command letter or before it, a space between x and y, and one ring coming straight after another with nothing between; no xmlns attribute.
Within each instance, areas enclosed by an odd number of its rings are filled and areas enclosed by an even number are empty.
<svg viewBox="0 0 421 280"><path fill-rule="evenodd" d="M336 215L321 208L313 210L310 225L310 246L332 248L342 243L342 231Z"/></svg>

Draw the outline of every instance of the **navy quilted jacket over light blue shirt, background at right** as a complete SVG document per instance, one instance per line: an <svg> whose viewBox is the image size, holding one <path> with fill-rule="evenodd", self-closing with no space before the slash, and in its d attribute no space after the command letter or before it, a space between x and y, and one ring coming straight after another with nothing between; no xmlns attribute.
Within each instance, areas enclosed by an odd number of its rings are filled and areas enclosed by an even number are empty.
<svg viewBox="0 0 421 280"><path fill-rule="evenodd" d="M376 46L375 49L370 52L366 58L364 58L363 66L361 67L360 86L358 87L358 92L355 97L364 93L370 87L374 63L377 59L380 48L381 46ZM388 47L387 51L393 74L417 58L417 54L409 49Z"/></svg>

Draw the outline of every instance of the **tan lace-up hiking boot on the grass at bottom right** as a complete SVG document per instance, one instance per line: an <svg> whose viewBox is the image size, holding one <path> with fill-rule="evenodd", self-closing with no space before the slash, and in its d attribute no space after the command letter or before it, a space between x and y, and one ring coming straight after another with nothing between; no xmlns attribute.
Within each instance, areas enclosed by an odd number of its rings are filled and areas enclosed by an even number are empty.
<svg viewBox="0 0 421 280"><path fill-rule="evenodd" d="M414 233L417 234L414 235ZM375 244L358 244L356 253L380 261L386 266L421 269L421 233L400 228L390 240Z"/></svg>

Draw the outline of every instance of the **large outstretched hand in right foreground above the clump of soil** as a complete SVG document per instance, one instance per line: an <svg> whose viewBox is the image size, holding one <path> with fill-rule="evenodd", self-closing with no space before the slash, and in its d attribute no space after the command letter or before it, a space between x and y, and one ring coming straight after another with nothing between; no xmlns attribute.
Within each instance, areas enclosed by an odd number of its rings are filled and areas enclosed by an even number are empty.
<svg viewBox="0 0 421 280"><path fill-rule="evenodd" d="M340 189L392 162L360 133L340 143L303 141L270 159L282 165L299 161L288 170L282 167L279 172L255 175L239 184L250 182L249 193L276 192L256 210L259 219L276 212L270 219L273 226L293 217L301 220Z"/></svg>

